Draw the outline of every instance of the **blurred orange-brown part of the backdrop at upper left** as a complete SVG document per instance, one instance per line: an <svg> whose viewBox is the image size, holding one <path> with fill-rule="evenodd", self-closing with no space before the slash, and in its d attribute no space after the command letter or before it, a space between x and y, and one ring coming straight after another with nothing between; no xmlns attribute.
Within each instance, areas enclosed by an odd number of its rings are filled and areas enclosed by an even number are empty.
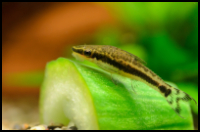
<svg viewBox="0 0 200 132"><path fill-rule="evenodd" d="M44 71L73 44L83 44L100 27L114 24L96 3L2 3L2 94L38 94L38 88L13 86L9 75ZM37 87L37 86L36 86Z"/></svg>

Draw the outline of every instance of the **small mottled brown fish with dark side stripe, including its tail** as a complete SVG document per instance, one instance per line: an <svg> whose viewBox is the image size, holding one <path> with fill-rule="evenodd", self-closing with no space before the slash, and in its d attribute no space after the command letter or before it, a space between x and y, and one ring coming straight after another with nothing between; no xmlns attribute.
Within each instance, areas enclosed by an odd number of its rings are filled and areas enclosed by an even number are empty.
<svg viewBox="0 0 200 132"><path fill-rule="evenodd" d="M143 60L124 50L106 45L78 45L73 46L72 50L73 56L78 60L94 62L108 72L118 73L149 85L165 97L180 117L182 116L179 102L194 100L187 93L165 83L158 75L144 66Z"/></svg>

